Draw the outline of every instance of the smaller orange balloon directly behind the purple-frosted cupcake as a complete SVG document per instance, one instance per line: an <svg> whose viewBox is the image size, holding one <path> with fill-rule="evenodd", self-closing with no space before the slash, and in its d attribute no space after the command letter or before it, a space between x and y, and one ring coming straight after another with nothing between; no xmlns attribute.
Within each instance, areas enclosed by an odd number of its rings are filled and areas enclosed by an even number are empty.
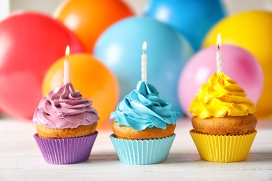
<svg viewBox="0 0 272 181"><path fill-rule="evenodd" d="M43 95L63 84L65 57L56 61L43 80ZM82 97L93 101L98 111L98 128L108 128L109 115L119 100L119 85L114 74L103 63L89 54L73 54L70 63L70 82Z"/></svg>

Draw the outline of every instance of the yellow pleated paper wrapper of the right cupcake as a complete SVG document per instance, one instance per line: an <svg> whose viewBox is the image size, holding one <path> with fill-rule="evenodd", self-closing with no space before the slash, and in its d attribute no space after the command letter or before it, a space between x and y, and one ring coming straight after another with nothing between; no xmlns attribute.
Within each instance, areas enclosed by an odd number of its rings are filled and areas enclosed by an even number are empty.
<svg viewBox="0 0 272 181"><path fill-rule="evenodd" d="M238 136L218 136L192 132L200 157L210 162L240 162L248 157L257 131Z"/></svg>

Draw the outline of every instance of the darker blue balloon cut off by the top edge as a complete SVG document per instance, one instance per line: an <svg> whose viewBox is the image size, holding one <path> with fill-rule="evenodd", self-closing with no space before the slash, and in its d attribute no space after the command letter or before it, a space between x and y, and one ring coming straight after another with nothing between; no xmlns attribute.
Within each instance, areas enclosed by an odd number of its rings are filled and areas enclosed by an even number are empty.
<svg viewBox="0 0 272 181"><path fill-rule="evenodd" d="M149 0L144 15L173 26L198 51L206 33L226 13L220 0Z"/></svg>

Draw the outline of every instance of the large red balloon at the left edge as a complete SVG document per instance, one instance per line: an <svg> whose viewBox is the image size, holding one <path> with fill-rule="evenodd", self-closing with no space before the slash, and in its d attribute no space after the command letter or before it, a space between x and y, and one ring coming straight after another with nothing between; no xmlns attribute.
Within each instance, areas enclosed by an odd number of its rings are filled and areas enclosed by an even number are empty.
<svg viewBox="0 0 272 181"><path fill-rule="evenodd" d="M0 107L15 118L31 119L42 98L50 65L65 53L84 49L61 22L40 13L17 13L0 22Z"/></svg>

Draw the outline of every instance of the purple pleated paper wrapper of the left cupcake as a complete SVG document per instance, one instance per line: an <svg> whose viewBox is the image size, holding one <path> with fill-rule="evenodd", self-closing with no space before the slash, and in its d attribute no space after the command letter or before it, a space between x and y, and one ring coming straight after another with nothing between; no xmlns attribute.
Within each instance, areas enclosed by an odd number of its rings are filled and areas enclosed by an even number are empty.
<svg viewBox="0 0 272 181"><path fill-rule="evenodd" d="M98 132L68 139L43 139L34 134L40 152L48 164L76 164L89 159Z"/></svg>

